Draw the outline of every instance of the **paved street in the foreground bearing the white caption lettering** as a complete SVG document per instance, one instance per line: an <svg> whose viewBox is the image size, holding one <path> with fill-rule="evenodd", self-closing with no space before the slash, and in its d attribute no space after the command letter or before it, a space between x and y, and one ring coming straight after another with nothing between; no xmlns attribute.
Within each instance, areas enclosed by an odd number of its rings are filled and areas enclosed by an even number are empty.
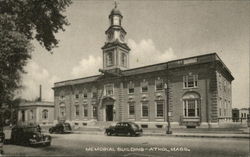
<svg viewBox="0 0 250 157"><path fill-rule="evenodd" d="M52 135L50 147L31 148L5 145L6 155L13 156L192 156L247 157L247 139L187 138L167 136L105 136L86 134Z"/></svg>

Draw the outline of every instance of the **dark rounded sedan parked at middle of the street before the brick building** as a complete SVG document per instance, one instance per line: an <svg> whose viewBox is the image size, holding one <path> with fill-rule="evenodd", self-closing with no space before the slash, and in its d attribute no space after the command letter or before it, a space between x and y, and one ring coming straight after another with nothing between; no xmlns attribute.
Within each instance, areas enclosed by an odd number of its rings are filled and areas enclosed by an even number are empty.
<svg viewBox="0 0 250 157"><path fill-rule="evenodd" d="M118 122L115 126L110 126L106 129L105 133L111 135L128 135L136 136L141 135L143 130L133 122Z"/></svg>

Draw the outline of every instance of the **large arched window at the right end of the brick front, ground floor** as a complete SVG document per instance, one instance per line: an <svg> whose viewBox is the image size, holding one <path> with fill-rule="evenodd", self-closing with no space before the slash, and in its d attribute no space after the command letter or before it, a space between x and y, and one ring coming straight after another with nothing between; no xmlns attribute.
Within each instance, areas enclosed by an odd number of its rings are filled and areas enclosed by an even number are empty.
<svg viewBox="0 0 250 157"><path fill-rule="evenodd" d="M183 116L199 117L200 116L200 95L195 92L188 92L183 97Z"/></svg>

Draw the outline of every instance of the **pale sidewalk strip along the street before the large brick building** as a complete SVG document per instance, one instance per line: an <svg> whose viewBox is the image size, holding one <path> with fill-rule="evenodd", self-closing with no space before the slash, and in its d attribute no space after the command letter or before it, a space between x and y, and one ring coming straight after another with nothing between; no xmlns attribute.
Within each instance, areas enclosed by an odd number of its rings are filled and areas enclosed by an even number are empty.
<svg viewBox="0 0 250 157"><path fill-rule="evenodd" d="M250 139L249 128L246 128L248 132L244 132L242 130L233 130L233 131L216 131L205 129L173 129L173 134L166 134L166 130L158 129L144 129L143 136L171 136L171 137L198 137L198 138L240 138L240 139ZM103 135L104 129L101 128L85 128L81 130L75 130L76 134L95 134L95 135Z"/></svg>

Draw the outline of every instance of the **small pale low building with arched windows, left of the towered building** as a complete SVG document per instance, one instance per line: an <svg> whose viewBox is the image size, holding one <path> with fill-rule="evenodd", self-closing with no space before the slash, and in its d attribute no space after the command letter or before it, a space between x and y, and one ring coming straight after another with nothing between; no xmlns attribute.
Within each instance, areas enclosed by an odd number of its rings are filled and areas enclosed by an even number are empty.
<svg viewBox="0 0 250 157"><path fill-rule="evenodd" d="M24 101L18 107L18 124L51 125L53 121L53 102Z"/></svg>

